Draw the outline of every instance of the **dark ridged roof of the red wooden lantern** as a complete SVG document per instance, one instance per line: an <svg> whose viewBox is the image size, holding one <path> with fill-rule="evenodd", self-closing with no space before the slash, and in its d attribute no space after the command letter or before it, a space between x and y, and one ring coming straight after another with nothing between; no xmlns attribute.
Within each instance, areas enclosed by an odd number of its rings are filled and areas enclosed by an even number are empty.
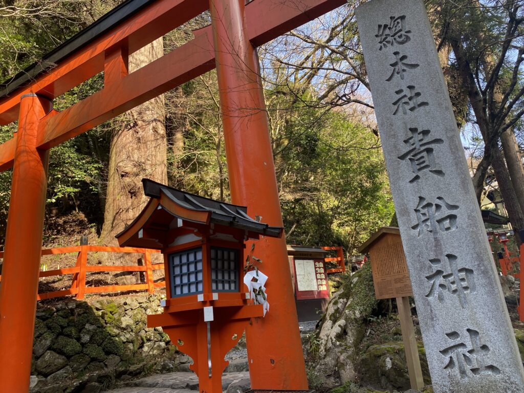
<svg viewBox="0 0 524 393"><path fill-rule="evenodd" d="M204 198L203 196L177 190L149 179L142 179L142 184L144 185L144 193L152 199L160 199L163 194L183 209L211 213L210 223L230 226L271 237L280 237L282 235L282 227L270 226L249 217L246 206L238 206ZM140 213L140 215L141 214L142 213ZM180 218L183 219L184 217ZM202 224L206 223L202 222Z"/></svg>

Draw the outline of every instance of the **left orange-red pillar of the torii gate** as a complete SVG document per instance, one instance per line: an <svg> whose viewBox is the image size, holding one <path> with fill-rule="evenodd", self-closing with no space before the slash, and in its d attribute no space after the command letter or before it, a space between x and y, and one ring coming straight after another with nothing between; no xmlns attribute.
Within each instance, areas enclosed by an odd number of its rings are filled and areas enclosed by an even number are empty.
<svg viewBox="0 0 524 393"><path fill-rule="evenodd" d="M37 134L51 108L36 94L21 97L0 283L2 392L29 390L49 161L48 150L37 149Z"/></svg>

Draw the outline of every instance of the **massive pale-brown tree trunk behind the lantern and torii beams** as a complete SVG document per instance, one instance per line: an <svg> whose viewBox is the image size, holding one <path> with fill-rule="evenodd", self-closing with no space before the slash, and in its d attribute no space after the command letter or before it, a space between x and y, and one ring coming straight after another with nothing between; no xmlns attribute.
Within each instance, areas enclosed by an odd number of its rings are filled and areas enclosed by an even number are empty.
<svg viewBox="0 0 524 393"><path fill-rule="evenodd" d="M163 56L162 38L129 56L133 72ZM167 138L163 95L141 104L125 115L125 124L113 135L100 241L117 245L115 235L124 230L147 203L141 179L167 183ZM106 263L134 265L138 255L109 254ZM116 275L119 282L132 282L133 276Z"/></svg>

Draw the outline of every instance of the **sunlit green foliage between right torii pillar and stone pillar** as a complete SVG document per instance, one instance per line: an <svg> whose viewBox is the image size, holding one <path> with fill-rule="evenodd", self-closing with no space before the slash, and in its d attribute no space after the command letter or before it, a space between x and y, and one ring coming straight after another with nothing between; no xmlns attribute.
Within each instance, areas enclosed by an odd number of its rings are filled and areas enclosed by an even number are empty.
<svg viewBox="0 0 524 393"><path fill-rule="evenodd" d="M394 214L377 138L338 112L283 116L274 151L288 241L354 250Z"/></svg>

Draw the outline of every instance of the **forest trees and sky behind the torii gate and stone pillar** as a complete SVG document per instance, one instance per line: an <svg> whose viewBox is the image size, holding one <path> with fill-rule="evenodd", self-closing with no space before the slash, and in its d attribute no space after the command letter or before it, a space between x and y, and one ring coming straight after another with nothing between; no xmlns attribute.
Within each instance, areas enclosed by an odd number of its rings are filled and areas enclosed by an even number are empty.
<svg viewBox="0 0 524 393"><path fill-rule="evenodd" d="M0 81L119 3L0 0ZM395 221L353 12L359 3L349 0L258 50L287 242L342 245L349 255ZM425 3L477 197L496 180L511 223L524 228L522 1ZM204 13L135 52L129 72L208 24ZM96 75L54 100L54 108L99 91L103 80ZM15 130L0 127L0 141ZM147 202L142 178L229 199L215 71L51 150L44 244L67 245L64 239L75 243L89 233L116 245L114 235ZM0 243L9 189L7 171L0 174Z"/></svg>

